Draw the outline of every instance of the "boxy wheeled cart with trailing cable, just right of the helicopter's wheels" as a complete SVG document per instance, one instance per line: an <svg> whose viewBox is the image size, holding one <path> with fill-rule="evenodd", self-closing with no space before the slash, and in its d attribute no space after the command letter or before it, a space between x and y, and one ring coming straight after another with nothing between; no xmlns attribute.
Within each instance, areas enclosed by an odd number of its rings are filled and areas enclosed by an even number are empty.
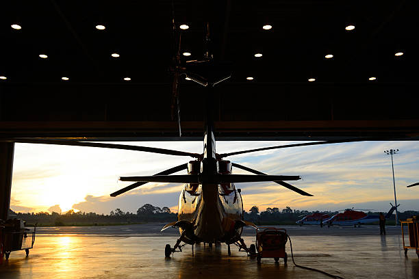
<svg viewBox="0 0 419 279"><path fill-rule="evenodd" d="M259 227L256 229L256 249L257 263L262 258L274 258L278 263L279 258L283 258L283 263L287 263L288 255L285 252L285 243L288 235L285 228Z"/></svg>

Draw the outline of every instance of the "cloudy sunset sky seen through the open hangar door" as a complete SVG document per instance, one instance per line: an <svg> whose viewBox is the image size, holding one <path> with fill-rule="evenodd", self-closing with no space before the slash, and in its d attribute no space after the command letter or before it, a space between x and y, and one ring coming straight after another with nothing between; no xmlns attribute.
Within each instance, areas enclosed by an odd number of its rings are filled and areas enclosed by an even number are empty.
<svg viewBox="0 0 419 279"><path fill-rule="evenodd" d="M113 142L200 153L203 142ZM218 153L277 146L295 142L217 142ZM313 194L301 196L281 185L237 183L242 189L244 209L257 205L308 211L371 209L388 211L394 204L392 165L384 150L394 155L396 195L399 211L419 211L419 142L353 142L265 150L227 159L266 174L299 175L290 184ZM177 211L183 185L147 183L116 198L110 193L131 183L119 176L145 176L190 161L189 157L159 155L132 150L80 146L16 144L11 208L18 212L76 211L109 214L119 208L136 213L143 204ZM184 171L186 174L186 171ZM249 174L233 168L233 173ZM182 174L179 172L178 174Z"/></svg>

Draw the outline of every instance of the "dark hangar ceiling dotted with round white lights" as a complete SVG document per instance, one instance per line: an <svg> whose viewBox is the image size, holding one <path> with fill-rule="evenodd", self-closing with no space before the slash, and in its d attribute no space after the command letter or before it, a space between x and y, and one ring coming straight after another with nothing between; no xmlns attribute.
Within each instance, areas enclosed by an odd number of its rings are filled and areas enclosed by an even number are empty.
<svg viewBox="0 0 419 279"><path fill-rule="evenodd" d="M174 4L182 62L202 59L209 20L214 59L233 63L214 88L218 139L418 138L415 1ZM179 140L171 18L171 1L5 3L0 137ZM202 138L204 92L181 79L180 139Z"/></svg>

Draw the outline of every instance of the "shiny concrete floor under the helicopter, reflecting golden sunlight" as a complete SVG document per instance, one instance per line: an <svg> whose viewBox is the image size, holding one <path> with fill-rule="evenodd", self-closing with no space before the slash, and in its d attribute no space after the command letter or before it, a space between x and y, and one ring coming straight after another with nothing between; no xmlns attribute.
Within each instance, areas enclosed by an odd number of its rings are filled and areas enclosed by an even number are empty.
<svg viewBox="0 0 419 279"><path fill-rule="evenodd" d="M153 228L153 229L151 229ZM154 228L156 228L154 230ZM0 265L0 278L328 278L314 271L294 267L291 258L264 258L258 265L246 253L232 246L205 248L190 245L173 258L164 258L164 245L173 246L175 230L164 236L159 226L133 225L109 228L112 234L86 233L98 228L68 228L58 233L44 228L29 257L12 252ZM101 228L99 228L101 229ZM322 269L343 278L419 278L419 259L414 250L407 257L402 250L400 228L388 228L377 235L377 226L364 228L290 227L296 263ZM118 233L119 232L119 233ZM131 232L131 234L127 234ZM255 240L246 230L244 240ZM290 255L290 246L286 248Z"/></svg>

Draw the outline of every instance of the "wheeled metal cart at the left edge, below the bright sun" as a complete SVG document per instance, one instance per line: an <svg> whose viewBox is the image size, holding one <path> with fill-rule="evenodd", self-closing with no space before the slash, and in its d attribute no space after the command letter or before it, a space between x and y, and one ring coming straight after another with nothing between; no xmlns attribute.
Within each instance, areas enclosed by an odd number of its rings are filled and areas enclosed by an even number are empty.
<svg viewBox="0 0 419 279"><path fill-rule="evenodd" d="M8 260L12 251L25 250L26 256L29 255L29 249L34 248L36 235L36 226L31 228L16 228L9 226L1 226L0 241L1 241L1 256L5 255Z"/></svg>

